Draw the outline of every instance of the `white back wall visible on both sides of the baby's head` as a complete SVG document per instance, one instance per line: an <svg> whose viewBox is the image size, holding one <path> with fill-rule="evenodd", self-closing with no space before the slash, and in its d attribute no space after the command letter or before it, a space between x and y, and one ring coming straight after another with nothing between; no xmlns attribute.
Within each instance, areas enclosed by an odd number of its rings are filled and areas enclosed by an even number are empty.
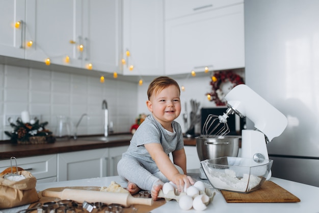
<svg viewBox="0 0 319 213"><path fill-rule="evenodd" d="M184 132L184 122L183 122L183 113L185 112L185 103L187 103L187 110L188 115L191 112L191 99L194 99L197 102L200 102L200 108L205 107L214 107L216 106L214 102L210 102L207 100L205 94L207 92L211 91L210 86L210 73L205 74L201 77L185 77L185 78L176 78L174 80L177 81L179 86L184 86L185 90L181 91L180 99L182 104L182 110L181 113L176 119L176 121L181 125L183 132ZM155 77L154 77L155 78ZM142 86L139 86L138 88L138 113L146 113L150 114L146 107L146 101L147 101L147 88L152 80L143 82ZM200 113L200 110L198 111ZM188 125L189 126L189 125ZM195 127L196 133L200 133L200 125L197 125Z"/></svg>

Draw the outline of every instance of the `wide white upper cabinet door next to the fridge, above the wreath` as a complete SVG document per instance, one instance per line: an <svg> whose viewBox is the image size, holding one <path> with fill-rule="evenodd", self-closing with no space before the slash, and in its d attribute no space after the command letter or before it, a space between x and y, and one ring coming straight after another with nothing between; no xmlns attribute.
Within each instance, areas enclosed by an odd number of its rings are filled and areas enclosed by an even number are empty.
<svg viewBox="0 0 319 213"><path fill-rule="evenodd" d="M244 48L244 4L165 22L166 75L245 67Z"/></svg>

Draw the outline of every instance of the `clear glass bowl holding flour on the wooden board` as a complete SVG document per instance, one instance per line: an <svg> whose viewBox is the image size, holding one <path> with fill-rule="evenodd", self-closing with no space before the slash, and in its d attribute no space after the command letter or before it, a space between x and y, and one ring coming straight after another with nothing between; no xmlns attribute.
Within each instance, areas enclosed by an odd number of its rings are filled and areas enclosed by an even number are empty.
<svg viewBox="0 0 319 213"><path fill-rule="evenodd" d="M273 160L241 157L220 157L201 161L212 187L238 193L260 188L268 177Z"/></svg>

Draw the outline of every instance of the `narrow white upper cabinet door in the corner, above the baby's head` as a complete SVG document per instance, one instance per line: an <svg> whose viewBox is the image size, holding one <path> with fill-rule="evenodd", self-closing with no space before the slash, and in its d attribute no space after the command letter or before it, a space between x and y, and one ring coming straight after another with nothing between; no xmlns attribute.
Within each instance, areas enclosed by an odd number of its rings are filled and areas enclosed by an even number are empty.
<svg viewBox="0 0 319 213"><path fill-rule="evenodd" d="M124 75L164 74L164 0L123 0ZM126 56L126 51L130 56ZM132 70L129 66L133 65Z"/></svg>

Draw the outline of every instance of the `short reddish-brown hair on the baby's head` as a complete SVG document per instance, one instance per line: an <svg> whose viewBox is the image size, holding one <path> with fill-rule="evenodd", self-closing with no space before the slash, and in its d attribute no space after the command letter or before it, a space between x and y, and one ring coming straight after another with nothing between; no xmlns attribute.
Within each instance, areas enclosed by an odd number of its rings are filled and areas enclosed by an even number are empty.
<svg viewBox="0 0 319 213"><path fill-rule="evenodd" d="M167 77L167 76L160 76L160 77L155 78L149 84L148 89L147 89L148 100L150 99L152 94L154 94L154 93L156 94L157 92L162 91L163 89L165 89L171 85L175 85L178 88L178 92L180 94L179 85L174 79Z"/></svg>

